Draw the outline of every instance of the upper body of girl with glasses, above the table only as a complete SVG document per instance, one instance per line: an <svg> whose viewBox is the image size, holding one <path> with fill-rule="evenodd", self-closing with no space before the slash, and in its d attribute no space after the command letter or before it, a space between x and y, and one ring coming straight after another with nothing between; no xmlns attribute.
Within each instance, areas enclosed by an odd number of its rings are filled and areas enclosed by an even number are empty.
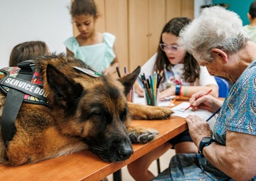
<svg viewBox="0 0 256 181"><path fill-rule="evenodd" d="M190 97L199 90L211 91L218 96L218 86L214 76L205 67L200 67L196 59L178 44L179 32L191 19L178 17L171 19L163 28L157 53L155 53L141 68L146 77L154 72L164 70L163 79L159 85L159 98L175 95L177 85L182 85L178 91L182 96ZM143 96L143 88L135 83L135 92Z"/></svg>

